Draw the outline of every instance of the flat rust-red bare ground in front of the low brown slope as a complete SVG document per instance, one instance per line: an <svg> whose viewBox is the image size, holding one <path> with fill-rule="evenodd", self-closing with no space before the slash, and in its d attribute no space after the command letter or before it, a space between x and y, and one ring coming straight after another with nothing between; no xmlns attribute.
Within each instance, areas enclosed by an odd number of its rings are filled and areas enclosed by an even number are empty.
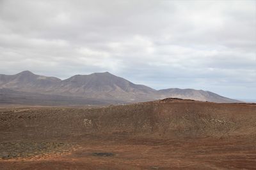
<svg viewBox="0 0 256 170"><path fill-rule="evenodd" d="M0 167L6 170L255 169L255 139L253 136L186 139L79 136L72 142L58 141L70 145L63 152L2 159Z"/></svg>

